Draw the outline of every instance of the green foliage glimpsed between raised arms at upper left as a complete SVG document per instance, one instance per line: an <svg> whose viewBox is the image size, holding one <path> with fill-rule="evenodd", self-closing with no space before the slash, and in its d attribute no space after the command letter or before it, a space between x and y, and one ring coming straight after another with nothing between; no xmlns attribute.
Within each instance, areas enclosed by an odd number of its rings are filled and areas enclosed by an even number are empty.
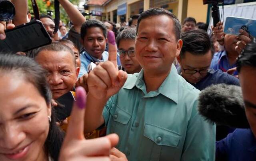
<svg viewBox="0 0 256 161"><path fill-rule="evenodd" d="M40 14L47 14L47 10L51 10L51 11L53 11L52 18L54 18L55 17L55 15L54 15L54 0L49 0L51 2L49 7L46 5L46 1L47 0L36 0L37 6L38 6L38 9L39 9L39 13ZM78 3L79 3L79 0L69 0L69 1L74 5L78 5ZM32 7L32 4L31 4L31 0L28 0L28 9L29 9L30 13L32 14L33 13L33 7ZM64 24L68 24L68 22L70 20L69 17L68 17L68 14L65 12L64 8L62 8L61 5L60 5L60 20L62 20L62 22Z"/></svg>

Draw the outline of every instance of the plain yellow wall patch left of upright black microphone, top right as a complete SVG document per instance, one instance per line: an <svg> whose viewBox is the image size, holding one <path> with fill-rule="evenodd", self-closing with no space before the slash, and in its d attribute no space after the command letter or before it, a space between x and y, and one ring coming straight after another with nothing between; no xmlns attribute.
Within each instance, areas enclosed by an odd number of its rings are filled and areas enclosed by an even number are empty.
<svg viewBox="0 0 256 161"><path fill-rule="evenodd" d="M194 17L196 22L206 23L208 5L202 0L188 0L187 17Z"/></svg>

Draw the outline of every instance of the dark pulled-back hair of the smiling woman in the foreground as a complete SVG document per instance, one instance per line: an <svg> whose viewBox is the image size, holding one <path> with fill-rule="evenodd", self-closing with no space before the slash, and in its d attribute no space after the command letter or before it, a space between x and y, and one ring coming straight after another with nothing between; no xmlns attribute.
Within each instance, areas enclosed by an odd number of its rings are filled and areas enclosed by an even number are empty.
<svg viewBox="0 0 256 161"><path fill-rule="evenodd" d="M15 73L21 75L26 81L32 83L44 97L47 105L51 103L52 93L46 81L46 71L34 60L16 54L0 54L0 72ZM60 147L64 138L64 132L56 125L54 108L52 108L52 121L50 122L49 133L44 143L46 152L58 161Z"/></svg>

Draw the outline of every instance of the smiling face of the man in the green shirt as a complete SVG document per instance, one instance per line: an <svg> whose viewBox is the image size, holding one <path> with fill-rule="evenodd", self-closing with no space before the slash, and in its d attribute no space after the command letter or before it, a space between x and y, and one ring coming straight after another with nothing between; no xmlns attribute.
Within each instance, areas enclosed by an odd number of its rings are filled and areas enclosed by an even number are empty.
<svg viewBox="0 0 256 161"><path fill-rule="evenodd" d="M169 16L151 16L140 21L135 54L145 72L170 71L181 47L182 40L176 40L174 21Z"/></svg>

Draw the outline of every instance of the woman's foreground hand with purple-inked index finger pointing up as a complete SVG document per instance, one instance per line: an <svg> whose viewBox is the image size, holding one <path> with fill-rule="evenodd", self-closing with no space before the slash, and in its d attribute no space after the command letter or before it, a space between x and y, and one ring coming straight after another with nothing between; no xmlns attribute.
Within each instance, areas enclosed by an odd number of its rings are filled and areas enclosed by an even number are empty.
<svg viewBox="0 0 256 161"><path fill-rule="evenodd" d="M60 150L60 161L110 161L110 150L118 143L118 136L86 140L84 138L84 112L86 92L82 87L76 88L74 103L66 137Z"/></svg>

